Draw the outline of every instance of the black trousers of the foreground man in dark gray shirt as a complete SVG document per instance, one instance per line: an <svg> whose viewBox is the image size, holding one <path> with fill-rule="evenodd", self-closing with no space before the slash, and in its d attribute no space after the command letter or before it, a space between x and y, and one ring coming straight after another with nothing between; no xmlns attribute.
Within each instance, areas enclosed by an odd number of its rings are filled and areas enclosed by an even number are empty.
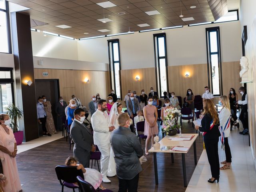
<svg viewBox="0 0 256 192"><path fill-rule="evenodd" d="M118 192L137 192L138 182L139 182L139 174L137 174L131 180L124 180L118 178L119 181L119 190Z"/></svg>

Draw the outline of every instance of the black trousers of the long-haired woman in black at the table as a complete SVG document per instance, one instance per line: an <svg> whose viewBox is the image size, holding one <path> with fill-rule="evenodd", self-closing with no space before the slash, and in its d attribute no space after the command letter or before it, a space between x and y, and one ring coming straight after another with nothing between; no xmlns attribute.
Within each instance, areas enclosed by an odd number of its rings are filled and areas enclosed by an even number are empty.
<svg viewBox="0 0 256 192"><path fill-rule="evenodd" d="M208 161L211 167L212 177L218 178L220 175L220 162L218 154L218 139L207 140L204 139L204 146L206 149Z"/></svg>

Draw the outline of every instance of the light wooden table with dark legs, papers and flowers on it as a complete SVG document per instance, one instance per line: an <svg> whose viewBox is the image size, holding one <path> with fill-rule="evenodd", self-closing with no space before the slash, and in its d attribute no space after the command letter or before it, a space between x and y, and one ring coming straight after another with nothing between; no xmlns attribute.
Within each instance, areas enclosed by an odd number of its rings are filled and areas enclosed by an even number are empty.
<svg viewBox="0 0 256 192"><path fill-rule="evenodd" d="M194 135L194 137L190 140L190 141L172 141L168 138L170 137L179 137L179 135L174 135L174 136L165 136L162 140L160 140L160 150L154 150L154 148L152 147L150 150L148 150L148 152L153 152L153 156L154 156L154 171L155 171L155 182L156 185L158 185L158 172L157 172L157 160L156 160L156 153L171 153L171 159L172 159L172 163L174 163L174 153L181 153L181 157L182 157L182 170L183 170L183 184L184 187L187 186L187 177L186 177L186 163L185 163L185 154L188 153L188 151L190 150L192 144L194 145L194 162L195 164L197 164L197 158L196 158L196 138L198 137L198 134L182 134L182 135ZM161 150L161 147L163 146L183 146L183 147L187 147L189 148L188 151L186 152L181 152L181 151L172 151L172 150L168 150L168 151L164 151Z"/></svg>

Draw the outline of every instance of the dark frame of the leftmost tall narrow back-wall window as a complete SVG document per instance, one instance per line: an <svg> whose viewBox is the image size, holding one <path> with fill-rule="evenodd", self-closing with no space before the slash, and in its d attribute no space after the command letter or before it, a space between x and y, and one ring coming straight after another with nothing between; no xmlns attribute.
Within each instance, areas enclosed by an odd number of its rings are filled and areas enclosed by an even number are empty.
<svg viewBox="0 0 256 192"><path fill-rule="evenodd" d="M118 44L118 61L114 61L114 43ZM111 50L112 52L110 53L110 44L111 44ZM110 56L111 54L111 56ZM112 60L111 60L112 58ZM115 76L115 63L119 63L119 85L120 85L120 100L122 100L122 86L121 86L121 58L120 58L120 43L119 43L119 39L113 39L113 40L108 40L108 62L109 62L109 72L110 72L110 85L111 85L111 89L114 90L114 92L116 93L116 76ZM111 67L112 66L112 67ZM112 73L111 73L111 69L113 69L113 79L114 82L112 82ZM114 87L113 87L114 84Z"/></svg>

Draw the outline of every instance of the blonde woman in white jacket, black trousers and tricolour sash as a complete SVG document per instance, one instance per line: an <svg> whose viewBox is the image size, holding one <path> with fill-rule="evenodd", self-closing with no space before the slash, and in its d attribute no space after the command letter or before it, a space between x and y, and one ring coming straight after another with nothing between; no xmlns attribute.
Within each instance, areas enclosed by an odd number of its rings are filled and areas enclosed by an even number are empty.
<svg viewBox="0 0 256 192"><path fill-rule="evenodd" d="M231 152L228 144L228 136L230 135L230 102L227 96L220 96L219 104L222 105L222 110L219 114L220 119L220 140L225 150L226 160L222 161L221 164L224 166L220 167L220 170L230 169L231 164Z"/></svg>

